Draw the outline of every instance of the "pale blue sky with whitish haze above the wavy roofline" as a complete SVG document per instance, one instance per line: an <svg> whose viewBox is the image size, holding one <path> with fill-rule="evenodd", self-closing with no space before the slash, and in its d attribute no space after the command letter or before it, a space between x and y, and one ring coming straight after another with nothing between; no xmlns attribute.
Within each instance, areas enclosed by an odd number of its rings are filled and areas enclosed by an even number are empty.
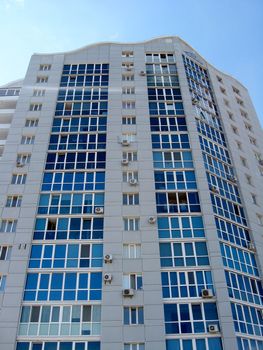
<svg viewBox="0 0 263 350"><path fill-rule="evenodd" d="M263 124L263 0L0 0L0 85L30 56L178 35L249 90Z"/></svg>

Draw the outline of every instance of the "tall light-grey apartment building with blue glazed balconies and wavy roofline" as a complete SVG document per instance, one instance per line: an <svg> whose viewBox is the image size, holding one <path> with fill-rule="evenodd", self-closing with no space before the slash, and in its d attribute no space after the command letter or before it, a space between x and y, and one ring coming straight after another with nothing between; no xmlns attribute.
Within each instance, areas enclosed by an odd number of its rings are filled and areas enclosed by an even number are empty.
<svg viewBox="0 0 263 350"><path fill-rule="evenodd" d="M263 133L178 37L0 89L1 350L262 350Z"/></svg>

